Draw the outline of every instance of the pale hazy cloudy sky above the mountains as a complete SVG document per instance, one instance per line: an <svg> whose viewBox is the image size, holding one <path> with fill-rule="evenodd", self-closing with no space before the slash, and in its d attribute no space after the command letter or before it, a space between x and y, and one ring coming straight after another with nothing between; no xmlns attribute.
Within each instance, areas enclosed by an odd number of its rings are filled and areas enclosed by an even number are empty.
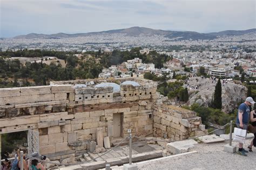
<svg viewBox="0 0 256 170"><path fill-rule="evenodd" d="M132 26L217 32L256 27L256 1L0 0L0 37L86 33Z"/></svg>

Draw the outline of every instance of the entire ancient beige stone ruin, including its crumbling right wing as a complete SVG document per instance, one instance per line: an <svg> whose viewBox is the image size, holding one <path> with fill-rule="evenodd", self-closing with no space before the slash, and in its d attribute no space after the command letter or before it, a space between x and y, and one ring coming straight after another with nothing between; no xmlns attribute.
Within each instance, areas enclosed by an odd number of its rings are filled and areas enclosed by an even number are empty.
<svg viewBox="0 0 256 170"><path fill-rule="evenodd" d="M50 160L93 151L96 144L110 147L114 139L129 136L128 129L133 136L173 141L205 132L195 112L166 101L156 82L132 77L4 88L0 89L0 132L39 131L39 152Z"/></svg>

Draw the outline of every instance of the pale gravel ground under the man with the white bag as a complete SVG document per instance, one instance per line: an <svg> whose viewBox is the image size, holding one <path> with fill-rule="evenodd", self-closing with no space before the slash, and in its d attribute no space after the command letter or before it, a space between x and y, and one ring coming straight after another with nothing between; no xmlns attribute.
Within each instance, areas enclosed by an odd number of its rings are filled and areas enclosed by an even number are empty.
<svg viewBox="0 0 256 170"><path fill-rule="evenodd" d="M248 146L252 139L248 139L244 146ZM195 145L191 151L197 153L181 155L138 164L139 169L256 169L256 147L249 152L247 157L237 153L224 152L224 143ZM237 143L232 143L237 146Z"/></svg>

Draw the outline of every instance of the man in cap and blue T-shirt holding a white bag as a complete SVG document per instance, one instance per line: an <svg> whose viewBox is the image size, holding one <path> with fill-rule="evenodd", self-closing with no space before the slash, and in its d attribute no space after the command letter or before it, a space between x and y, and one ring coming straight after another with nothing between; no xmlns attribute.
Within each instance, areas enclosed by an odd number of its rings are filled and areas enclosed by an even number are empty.
<svg viewBox="0 0 256 170"><path fill-rule="evenodd" d="M247 130L248 122L250 119L250 106L254 104L252 97L247 97L245 102L239 105L238 113L237 113L237 121L235 124L237 124L238 128ZM248 153L247 150L242 148L242 143L238 144L238 154L247 156L246 153Z"/></svg>

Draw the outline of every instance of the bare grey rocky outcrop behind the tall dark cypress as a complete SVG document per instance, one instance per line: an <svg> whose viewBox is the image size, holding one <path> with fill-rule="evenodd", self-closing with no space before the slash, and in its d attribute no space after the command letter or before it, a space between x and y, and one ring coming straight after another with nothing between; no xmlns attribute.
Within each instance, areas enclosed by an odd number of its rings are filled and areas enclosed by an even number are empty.
<svg viewBox="0 0 256 170"><path fill-rule="evenodd" d="M198 81L196 80L198 79ZM221 81L222 82L222 81ZM201 79L201 77L192 77L188 82L188 93L190 99L188 104L198 103L207 107L211 104L215 86L217 82L211 79ZM196 89L198 86L198 89ZM244 102L246 98L246 87L233 82L224 83L222 86L222 111L231 112L238 107L238 104Z"/></svg>

